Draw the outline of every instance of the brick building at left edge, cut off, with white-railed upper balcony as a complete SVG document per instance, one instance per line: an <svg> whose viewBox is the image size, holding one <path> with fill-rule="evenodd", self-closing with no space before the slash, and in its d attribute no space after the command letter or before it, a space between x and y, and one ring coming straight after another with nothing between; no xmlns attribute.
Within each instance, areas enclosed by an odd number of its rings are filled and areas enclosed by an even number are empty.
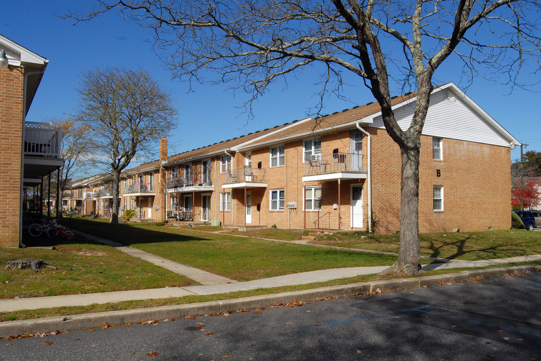
<svg viewBox="0 0 541 361"><path fill-rule="evenodd" d="M25 121L47 63L0 35L0 247L21 245L23 190L35 189L63 165L60 132L48 123Z"/></svg>

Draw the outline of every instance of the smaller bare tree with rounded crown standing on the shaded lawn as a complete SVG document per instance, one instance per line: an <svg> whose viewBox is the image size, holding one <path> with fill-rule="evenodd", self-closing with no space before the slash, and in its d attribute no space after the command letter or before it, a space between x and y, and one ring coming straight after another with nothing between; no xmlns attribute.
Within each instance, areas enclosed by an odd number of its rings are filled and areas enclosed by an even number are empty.
<svg viewBox="0 0 541 361"><path fill-rule="evenodd" d="M120 173L136 154L149 153L176 126L169 94L147 71L105 68L87 71L78 90L78 117L90 128L89 145L97 165L113 176L113 216L118 223Z"/></svg>

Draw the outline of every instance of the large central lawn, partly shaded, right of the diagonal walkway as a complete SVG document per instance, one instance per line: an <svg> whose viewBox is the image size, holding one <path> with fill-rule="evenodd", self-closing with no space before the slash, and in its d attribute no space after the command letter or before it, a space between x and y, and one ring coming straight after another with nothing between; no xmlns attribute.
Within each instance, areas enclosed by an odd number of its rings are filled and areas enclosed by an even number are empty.
<svg viewBox="0 0 541 361"><path fill-rule="evenodd" d="M237 281L325 270L328 268L392 265L395 257L341 251L235 234L194 232L153 223L110 225L74 219L74 228L112 239L160 257Z"/></svg>

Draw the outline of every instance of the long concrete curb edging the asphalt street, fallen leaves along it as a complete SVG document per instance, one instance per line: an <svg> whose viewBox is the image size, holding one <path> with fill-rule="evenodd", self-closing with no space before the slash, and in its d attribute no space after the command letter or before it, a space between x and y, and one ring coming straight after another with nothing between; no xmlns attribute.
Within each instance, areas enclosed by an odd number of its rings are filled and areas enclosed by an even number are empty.
<svg viewBox="0 0 541 361"><path fill-rule="evenodd" d="M326 297L337 298L367 292L392 292L408 288L437 286L441 283L445 284L459 282L468 279L496 277L511 273L535 271L541 271L541 266L489 268L487 270L472 270L417 278L371 281L367 283L361 282L349 285L314 288L312 290L283 292L267 294L264 296L208 301L187 305L159 306L149 307L146 309L76 314L67 317L57 316L30 320L3 321L0 322L0 338L7 338L28 333L54 332L58 330L74 331L81 329L92 329L101 327L105 323L114 326L127 323L138 323L147 320L163 320L186 316L201 316L212 313L234 312L237 310L260 309L263 307L293 303L294 301L311 302L318 299L325 299ZM378 291L378 288L380 291Z"/></svg>

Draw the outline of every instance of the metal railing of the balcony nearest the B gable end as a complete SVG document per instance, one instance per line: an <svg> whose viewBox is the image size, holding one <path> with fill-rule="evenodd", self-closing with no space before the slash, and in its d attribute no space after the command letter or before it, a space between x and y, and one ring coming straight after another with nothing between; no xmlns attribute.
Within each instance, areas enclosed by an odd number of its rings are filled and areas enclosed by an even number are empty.
<svg viewBox="0 0 541 361"><path fill-rule="evenodd" d="M305 174L355 172L362 170L362 154L333 153L312 156L305 162Z"/></svg>

